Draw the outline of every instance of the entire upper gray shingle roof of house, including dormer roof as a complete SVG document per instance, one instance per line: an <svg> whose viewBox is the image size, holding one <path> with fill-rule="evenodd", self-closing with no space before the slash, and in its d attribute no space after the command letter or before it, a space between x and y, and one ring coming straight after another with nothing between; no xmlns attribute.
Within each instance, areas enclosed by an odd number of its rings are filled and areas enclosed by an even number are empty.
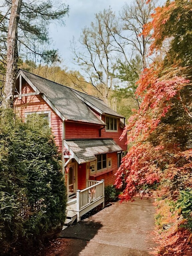
<svg viewBox="0 0 192 256"><path fill-rule="evenodd" d="M30 82L35 91L42 94L43 99L60 113L63 120L73 120L93 124L105 124L95 113L94 109L100 113L122 117L114 110L111 110L103 101L85 93L80 93L67 86L50 81L28 71L20 69L18 75L22 75L27 82ZM90 104L87 104L87 102ZM91 108L90 108L91 107ZM98 109L98 110L97 110Z"/></svg>

